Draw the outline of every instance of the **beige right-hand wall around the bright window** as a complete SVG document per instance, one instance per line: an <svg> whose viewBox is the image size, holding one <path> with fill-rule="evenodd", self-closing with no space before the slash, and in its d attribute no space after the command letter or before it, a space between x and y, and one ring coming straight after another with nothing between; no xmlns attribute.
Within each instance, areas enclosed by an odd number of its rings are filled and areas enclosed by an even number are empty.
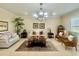
<svg viewBox="0 0 79 59"><path fill-rule="evenodd" d="M74 17L79 17L79 9L74 10L66 15L62 16L62 24L65 26L65 28L69 31L71 28L71 19Z"/></svg>

